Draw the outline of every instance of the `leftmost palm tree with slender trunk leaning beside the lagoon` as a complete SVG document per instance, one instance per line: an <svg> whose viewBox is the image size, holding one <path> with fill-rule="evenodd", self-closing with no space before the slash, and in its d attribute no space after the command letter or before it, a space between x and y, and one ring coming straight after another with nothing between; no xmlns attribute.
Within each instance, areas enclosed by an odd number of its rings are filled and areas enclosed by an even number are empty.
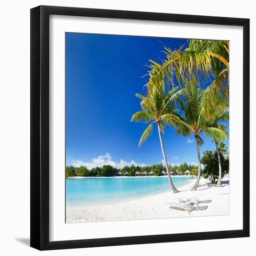
<svg viewBox="0 0 256 256"><path fill-rule="evenodd" d="M181 129L186 128L186 124L182 121L181 116L177 114L177 109L173 108L175 98L177 98L180 94L180 92L176 92L176 90L177 87L166 93L164 79L160 78L156 83L156 86L151 88L150 92L147 93L147 97L142 96L141 94L135 94L138 98L141 99L141 111L132 115L131 119L131 121L135 122L150 123L141 136L139 147L152 134L153 124L157 124L162 155L168 175L168 180L173 193L177 193L179 191L175 188L171 179L168 161L163 146L162 134L164 134L164 128L167 124L171 126L179 125Z"/></svg>

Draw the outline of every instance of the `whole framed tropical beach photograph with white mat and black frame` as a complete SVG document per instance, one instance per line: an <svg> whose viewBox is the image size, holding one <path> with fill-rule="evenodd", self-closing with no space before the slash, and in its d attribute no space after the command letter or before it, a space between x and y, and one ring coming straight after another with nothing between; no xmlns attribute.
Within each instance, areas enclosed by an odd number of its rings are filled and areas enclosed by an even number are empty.
<svg viewBox="0 0 256 256"><path fill-rule="evenodd" d="M31 246L249 236L249 19L31 9Z"/></svg>

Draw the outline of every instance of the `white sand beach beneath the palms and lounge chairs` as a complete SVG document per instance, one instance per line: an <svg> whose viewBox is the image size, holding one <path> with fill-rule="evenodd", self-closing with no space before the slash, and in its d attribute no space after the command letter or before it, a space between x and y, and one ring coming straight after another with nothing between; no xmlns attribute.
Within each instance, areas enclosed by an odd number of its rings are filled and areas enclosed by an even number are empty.
<svg viewBox="0 0 256 256"><path fill-rule="evenodd" d="M195 179L189 184L179 188L180 193L172 192L152 195L128 202L121 202L102 206L67 207L66 222L97 222L136 219L155 219L172 217L215 216L229 215L229 177L222 179L222 186L216 188L207 179L200 179L198 189L191 191ZM178 202L180 197L198 197L199 200L211 200L206 210L194 210L189 215L187 212L169 209L170 202Z"/></svg>

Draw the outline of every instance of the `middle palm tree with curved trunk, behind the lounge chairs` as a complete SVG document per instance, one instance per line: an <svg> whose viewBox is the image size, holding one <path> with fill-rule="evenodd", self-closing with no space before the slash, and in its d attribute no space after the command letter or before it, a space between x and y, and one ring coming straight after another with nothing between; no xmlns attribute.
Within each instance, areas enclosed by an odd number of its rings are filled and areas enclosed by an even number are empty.
<svg viewBox="0 0 256 256"><path fill-rule="evenodd" d="M203 140L200 134L203 132L205 135L211 137L223 137L226 134L220 127L213 125L211 120L204 118L204 109L202 108L202 92L203 91L195 86L193 82L189 82L182 90L182 97L179 97L177 100L184 115L184 119L182 119L182 121L186 122L189 129L184 129L184 126L182 128L177 126L176 133L188 136L192 132L195 136L198 159L198 175L195 186L192 190L197 189L201 176L200 146L203 144ZM217 115L217 110L215 115ZM212 116L212 118L214 117Z"/></svg>

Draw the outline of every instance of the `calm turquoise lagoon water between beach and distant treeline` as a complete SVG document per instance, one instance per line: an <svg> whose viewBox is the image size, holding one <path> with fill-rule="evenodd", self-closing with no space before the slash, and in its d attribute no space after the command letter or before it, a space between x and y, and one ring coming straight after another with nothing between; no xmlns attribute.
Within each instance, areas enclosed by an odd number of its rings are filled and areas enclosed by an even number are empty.
<svg viewBox="0 0 256 256"><path fill-rule="evenodd" d="M189 176L172 176L176 188L189 183ZM129 201L171 191L168 177L66 179L67 206L101 205Z"/></svg>

